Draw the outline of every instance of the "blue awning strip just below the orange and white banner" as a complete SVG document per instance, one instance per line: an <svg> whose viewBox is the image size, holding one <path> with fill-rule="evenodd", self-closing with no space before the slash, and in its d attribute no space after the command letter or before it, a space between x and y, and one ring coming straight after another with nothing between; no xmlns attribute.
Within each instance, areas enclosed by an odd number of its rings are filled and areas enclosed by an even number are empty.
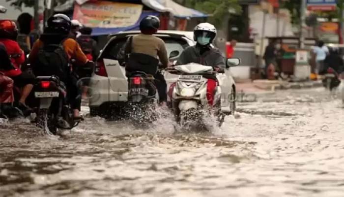
<svg viewBox="0 0 344 197"><path fill-rule="evenodd" d="M124 28L93 28L92 35L108 35L111 33L118 33L118 32L122 32L122 31L139 30L140 29L140 21L148 15L158 16L159 12L143 11L141 13L140 19L134 25L124 27Z"/></svg>

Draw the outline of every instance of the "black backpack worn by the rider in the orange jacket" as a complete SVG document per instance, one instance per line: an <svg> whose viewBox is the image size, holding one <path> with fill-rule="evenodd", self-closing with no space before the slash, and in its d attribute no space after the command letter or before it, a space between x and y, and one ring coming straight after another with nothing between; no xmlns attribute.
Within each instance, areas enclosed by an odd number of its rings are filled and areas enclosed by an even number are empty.
<svg viewBox="0 0 344 197"><path fill-rule="evenodd" d="M59 44L44 43L37 54L33 72L36 76L56 75L65 81L71 74L69 58L63 48L64 40Z"/></svg>

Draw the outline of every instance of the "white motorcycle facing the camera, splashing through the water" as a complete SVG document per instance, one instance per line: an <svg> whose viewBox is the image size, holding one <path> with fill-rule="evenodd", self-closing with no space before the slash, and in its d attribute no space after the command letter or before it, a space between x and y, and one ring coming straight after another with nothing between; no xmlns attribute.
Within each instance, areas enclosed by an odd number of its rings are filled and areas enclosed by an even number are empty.
<svg viewBox="0 0 344 197"><path fill-rule="evenodd" d="M221 111L221 87L216 79L217 73L224 73L223 69L215 71L212 66L188 64L174 66L166 71L179 75L177 81L170 87L168 96L176 121L182 126L190 124L203 125L204 115L213 114L217 117L218 125L224 122L225 114ZM212 104L209 104L208 83L216 83ZM191 125L190 125L191 126Z"/></svg>

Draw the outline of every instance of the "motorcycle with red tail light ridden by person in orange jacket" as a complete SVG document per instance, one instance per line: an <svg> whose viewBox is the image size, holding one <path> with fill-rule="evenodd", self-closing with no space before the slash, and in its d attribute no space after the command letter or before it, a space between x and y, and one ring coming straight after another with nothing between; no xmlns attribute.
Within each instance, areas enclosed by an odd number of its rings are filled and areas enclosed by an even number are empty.
<svg viewBox="0 0 344 197"><path fill-rule="evenodd" d="M73 111L66 101L67 89L57 76L38 76L34 84L34 97L38 100L36 126L53 134L57 129L70 130L78 126Z"/></svg>

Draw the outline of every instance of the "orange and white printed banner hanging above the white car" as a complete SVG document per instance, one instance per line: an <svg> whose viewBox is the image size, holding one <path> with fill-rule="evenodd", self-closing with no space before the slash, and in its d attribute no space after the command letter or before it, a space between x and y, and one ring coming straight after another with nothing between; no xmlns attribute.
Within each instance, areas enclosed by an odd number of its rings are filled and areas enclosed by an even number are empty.
<svg viewBox="0 0 344 197"><path fill-rule="evenodd" d="M75 4L73 19L90 28L122 28L134 25L140 18L142 4L111 1Z"/></svg>

